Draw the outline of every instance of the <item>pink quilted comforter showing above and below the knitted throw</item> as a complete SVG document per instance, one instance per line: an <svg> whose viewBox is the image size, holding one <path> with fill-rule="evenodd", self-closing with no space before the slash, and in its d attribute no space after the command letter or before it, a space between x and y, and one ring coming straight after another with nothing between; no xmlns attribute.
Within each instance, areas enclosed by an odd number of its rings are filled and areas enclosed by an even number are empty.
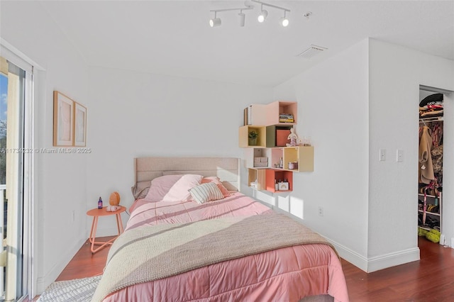
<svg viewBox="0 0 454 302"><path fill-rule="evenodd" d="M126 230L141 225L266 215L272 210L236 192L204 204L138 200L130 211ZM128 286L104 301L300 301L323 294L333 296L334 301L348 301L338 255L328 245L297 245Z"/></svg>

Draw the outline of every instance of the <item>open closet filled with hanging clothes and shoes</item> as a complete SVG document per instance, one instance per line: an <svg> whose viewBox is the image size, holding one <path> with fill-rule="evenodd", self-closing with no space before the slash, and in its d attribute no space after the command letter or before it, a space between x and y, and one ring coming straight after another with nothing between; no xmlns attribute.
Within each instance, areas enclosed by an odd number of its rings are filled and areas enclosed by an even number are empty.
<svg viewBox="0 0 454 302"><path fill-rule="evenodd" d="M443 94L420 91L418 235L441 238L443 213ZM445 242L440 242L444 244Z"/></svg>

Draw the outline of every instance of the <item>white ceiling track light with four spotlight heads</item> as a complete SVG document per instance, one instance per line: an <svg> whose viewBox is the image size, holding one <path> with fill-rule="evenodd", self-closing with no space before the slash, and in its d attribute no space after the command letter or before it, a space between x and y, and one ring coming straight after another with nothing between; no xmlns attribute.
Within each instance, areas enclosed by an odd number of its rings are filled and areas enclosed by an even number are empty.
<svg viewBox="0 0 454 302"><path fill-rule="evenodd" d="M221 11L239 11L238 16L240 16L240 26L243 27L245 24L245 14L243 13L243 11L248 11L248 10L254 9L254 6L253 6L254 2L260 4L260 14L258 15L258 18L257 18L258 22L262 23L267 18L268 11L263 9L263 6L268 6L273 9L280 9L280 10L284 11L284 16L282 18L280 18L279 22L284 27L287 27L289 25L289 19L287 19L287 12L290 12L289 9L285 9L282 6L267 4L265 2L258 1L258 0L245 1L244 7L238 7L238 8L233 8L233 9L212 9L211 12L214 13L214 18L210 19L209 25L211 27L221 26L221 18L217 17L217 13L219 13Z"/></svg>

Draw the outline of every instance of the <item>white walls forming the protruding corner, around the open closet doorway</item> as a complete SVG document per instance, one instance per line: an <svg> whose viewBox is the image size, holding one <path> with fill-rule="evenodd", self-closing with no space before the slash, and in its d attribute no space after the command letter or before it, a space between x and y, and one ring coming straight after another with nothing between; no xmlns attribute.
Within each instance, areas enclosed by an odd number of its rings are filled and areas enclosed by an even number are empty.
<svg viewBox="0 0 454 302"><path fill-rule="evenodd" d="M454 90L453 61L363 40L275 89L277 97L297 99L297 133L311 136L315 146L314 172L294 174L295 189L287 199L303 203L304 222L366 272L419 259L420 84ZM454 177L454 152L448 151L454 149L453 109L451 94L445 97L445 184ZM397 149L404 151L404 162L396 161ZM453 194L444 186L448 240L454 237ZM281 205L292 211L288 203Z"/></svg>

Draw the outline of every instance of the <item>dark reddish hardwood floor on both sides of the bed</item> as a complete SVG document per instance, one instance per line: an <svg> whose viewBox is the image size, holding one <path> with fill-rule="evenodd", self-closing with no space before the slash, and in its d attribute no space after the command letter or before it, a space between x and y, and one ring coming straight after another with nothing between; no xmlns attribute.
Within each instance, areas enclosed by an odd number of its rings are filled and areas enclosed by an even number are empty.
<svg viewBox="0 0 454 302"><path fill-rule="evenodd" d="M419 261L369 274L341 259L350 301L454 301L454 250L423 237L419 247ZM57 281L102 274L108 252L106 247L92 255L87 240Z"/></svg>

